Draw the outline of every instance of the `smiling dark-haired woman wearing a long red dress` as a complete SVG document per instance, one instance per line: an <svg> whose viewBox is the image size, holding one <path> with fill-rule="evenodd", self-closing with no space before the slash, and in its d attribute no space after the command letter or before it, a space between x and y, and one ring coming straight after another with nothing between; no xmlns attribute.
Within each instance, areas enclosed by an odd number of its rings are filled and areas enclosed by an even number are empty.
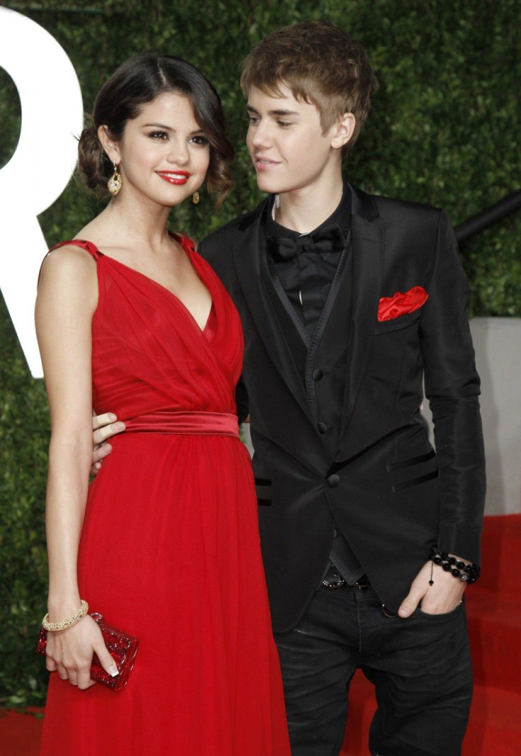
<svg viewBox="0 0 521 756"><path fill-rule="evenodd" d="M42 754L288 756L237 427L239 316L167 228L205 178L218 201L230 189L219 98L185 61L135 56L101 89L79 154L114 196L47 256L36 305L51 410ZM126 432L89 488L91 407ZM117 669L83 602L139 640L118 692L90 679L93 653Z"/></svg>

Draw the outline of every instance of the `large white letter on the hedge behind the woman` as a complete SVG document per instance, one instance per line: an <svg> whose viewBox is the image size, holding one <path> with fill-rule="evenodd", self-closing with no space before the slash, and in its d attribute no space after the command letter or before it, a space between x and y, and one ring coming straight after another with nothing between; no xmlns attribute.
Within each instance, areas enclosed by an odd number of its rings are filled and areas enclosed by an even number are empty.
<svg viewBox="0 0 521 756"><path fill-rule="evenodd" d="M20 140L0 169L0 288L32 375L42 376L36 283L48 249L38 218L60 197L77 160L82 91L63 48L42 26L0 7L0 67L20 96Z"/></svg>

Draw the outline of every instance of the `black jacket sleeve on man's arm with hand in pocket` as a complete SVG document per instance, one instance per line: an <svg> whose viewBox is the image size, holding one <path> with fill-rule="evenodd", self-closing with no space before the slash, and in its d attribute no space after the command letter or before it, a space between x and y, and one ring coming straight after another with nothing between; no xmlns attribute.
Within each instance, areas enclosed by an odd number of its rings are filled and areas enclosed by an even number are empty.
<svg viewBox="0 0 521 756"><path fill-rule="evenodd" d="M479 564L486 492L479 376L468 324L469 287L445 212L426 289L420 338L439 469L439 548Z"/></svg>

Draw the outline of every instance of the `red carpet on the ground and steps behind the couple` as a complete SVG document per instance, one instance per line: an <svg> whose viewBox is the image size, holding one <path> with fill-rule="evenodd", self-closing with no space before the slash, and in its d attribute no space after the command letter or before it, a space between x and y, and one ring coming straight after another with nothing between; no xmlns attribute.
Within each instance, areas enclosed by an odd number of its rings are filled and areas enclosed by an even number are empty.
<svg viewBox="0 0 521 756"><path fill-rule="evenodd" d="M486 517L482 551L482 578L467 590L476 688L462 756L519 756L521 515ZM357 672L341 756L369 756L367 733L374 711L371 683ZM2 756L37 756L42 720L34 714L0 714Z"/></svg>

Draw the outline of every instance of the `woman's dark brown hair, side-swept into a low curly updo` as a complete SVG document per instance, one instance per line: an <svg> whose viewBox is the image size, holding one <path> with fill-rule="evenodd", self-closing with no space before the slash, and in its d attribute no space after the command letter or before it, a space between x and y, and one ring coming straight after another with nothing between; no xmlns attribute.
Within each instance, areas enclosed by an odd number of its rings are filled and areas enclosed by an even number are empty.
<svg viewBox="0 0 521 756"><path fill-rule="evenodd" d="M226 121L219 95L208 79L180 57L143 53L125 60L103 84L92 115L93 125L83 129L79 138L79 169L88 187L105 187L113 174L97 130L105 125L110 138L119 141L127 121L136 118L141 107L163 92L174 92L190 100L196 121L210 143L208 191L217 195L217 207L233 186L228 163L234 150L226 138Z"/></svg>

